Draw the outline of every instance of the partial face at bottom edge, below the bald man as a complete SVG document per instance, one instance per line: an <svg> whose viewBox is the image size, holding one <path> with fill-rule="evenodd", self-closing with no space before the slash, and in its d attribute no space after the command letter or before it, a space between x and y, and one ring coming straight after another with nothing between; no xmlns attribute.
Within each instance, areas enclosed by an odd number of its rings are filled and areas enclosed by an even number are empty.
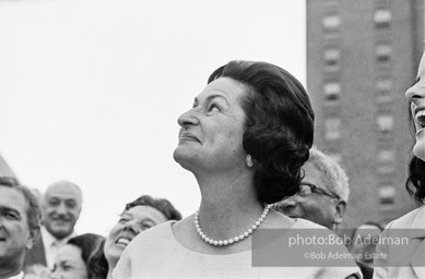
<svg viewBox="0 0 425 279"><path fill-rule="evenodd" d="M81 256L81 250L67 244L61 247L55 259L52 279L88 279L87 267Z"/></svg>

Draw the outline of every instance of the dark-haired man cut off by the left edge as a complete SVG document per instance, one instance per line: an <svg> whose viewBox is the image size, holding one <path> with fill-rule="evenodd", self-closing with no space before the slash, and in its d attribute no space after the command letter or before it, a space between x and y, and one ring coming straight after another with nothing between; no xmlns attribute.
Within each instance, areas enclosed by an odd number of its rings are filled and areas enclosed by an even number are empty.
<svg viewBox="0 0 425 279"><path fill-rule="evenodd" d="M38 236L40 217L27 187L0 178L0 279L24 278L25 254Z"/></svg>

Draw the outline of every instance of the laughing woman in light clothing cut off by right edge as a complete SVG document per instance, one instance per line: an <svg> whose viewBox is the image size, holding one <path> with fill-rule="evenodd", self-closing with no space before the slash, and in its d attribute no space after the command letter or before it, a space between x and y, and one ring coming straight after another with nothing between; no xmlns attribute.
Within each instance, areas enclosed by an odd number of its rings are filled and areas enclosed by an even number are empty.
<svg viewBox="0 0 425 279"><path fill-rule="evenodd" d="M420 203L425 199L425 54L415 83L405 97L410 102L411 131L415 134L409 165L408 192ZM388 223L382 239L409 238L405 245L378 244L374 278L425 278L425 206ZM387 243L388 244L388 243ZM379 256L385 255L385 256Z"/></svg>

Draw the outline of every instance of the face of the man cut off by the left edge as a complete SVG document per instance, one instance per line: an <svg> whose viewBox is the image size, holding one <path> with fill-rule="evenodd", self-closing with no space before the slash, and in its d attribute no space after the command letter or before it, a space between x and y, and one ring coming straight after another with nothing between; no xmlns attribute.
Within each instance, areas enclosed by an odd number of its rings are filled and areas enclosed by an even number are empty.
<svg viewBox="0 0 425 279"><path fill-rule="evenodd" d="M27 209L21 192L0 185L0 266L22 264L25 250L33 245Z"/></svg>

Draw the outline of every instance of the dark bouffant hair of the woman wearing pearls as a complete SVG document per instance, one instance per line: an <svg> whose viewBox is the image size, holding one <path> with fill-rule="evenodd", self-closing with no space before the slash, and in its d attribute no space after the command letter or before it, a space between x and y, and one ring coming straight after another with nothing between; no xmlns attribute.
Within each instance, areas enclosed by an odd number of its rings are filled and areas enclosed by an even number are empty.
<svg viewBox="0 0 425 279"><path fill-rule="evenodd" d="M232 61L215 70L208 83L219 77L247 87L243 145L256 162L259 202L273 204L294 195L314 140L315 114L307 92L287 71L265 62Z"/></svg>

